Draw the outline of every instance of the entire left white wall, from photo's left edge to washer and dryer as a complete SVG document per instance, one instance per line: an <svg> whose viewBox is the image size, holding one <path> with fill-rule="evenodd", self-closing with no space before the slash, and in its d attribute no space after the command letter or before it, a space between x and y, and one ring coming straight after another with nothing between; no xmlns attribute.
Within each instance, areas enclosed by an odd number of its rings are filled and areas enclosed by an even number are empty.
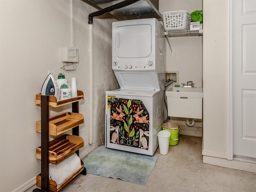
<svg viewBox="0 0 256 192"><path fill-rule="evenodd" d="M48 70L54 70L57 78L61 47L74 45L80 54L77 70L64 71L69 81L77 77L78 89L84 92L84 100L79 102L84 114L79 130L85 145L80 158L104 141L104 92L118 84L111 70L112 20L94 19L94 143L89 145L88 14L94 11L81 0L74 0L74 7L72 0L0 1L1 192L24 191L40 173L40 160L36 159L40 107L35 105L35 96ZM70 110L71 106L51 108L50 115Z"/></svg>

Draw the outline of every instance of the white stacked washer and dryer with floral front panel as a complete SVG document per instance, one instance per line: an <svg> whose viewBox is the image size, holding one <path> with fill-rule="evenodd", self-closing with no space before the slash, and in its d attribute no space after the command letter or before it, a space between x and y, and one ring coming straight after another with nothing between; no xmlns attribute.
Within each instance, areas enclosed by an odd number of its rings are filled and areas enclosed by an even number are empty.
<svg viewBox="0 0 256 192"><path fill-rule="evenodd" d="M106 148L152 156L162 130L164 27L156 18L112 24L112 69L120 88L106 91Z"/></svg>

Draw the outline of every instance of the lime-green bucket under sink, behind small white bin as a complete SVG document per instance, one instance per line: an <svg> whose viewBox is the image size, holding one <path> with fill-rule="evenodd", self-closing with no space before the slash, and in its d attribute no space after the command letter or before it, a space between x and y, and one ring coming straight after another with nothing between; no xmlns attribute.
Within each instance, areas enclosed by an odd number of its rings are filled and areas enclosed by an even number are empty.
<svg viewBox="0 0 256 192"><path fill-rule="evenodd" d="M180 132L180 126L176 123L172 122L166 122L162 126L163 130L167 130L170 132L170 142L169 146L175 146L179 142L179 132Z"/></svg>

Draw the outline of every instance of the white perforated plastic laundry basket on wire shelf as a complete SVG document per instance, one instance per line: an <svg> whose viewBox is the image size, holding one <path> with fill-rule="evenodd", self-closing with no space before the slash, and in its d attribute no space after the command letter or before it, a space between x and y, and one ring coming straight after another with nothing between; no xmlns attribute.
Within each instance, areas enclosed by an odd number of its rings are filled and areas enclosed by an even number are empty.
<svg viewBox="0 0 256 192"><path fill-rule="evenodd" d="M189 30L190 14L187 11L169 11L162 14L164 30Z"/></svg>

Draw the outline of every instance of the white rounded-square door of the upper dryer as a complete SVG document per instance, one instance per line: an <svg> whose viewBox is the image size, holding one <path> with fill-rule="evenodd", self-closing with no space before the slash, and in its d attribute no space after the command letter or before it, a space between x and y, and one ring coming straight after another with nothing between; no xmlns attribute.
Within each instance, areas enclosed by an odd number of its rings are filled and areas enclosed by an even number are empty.
<svg viewBox="0 0 256 192"><path fill-rule="evenodd" d="M143 58L152 52L151 25L128 25L115 29L116 56L119 58Z"/></svg>

